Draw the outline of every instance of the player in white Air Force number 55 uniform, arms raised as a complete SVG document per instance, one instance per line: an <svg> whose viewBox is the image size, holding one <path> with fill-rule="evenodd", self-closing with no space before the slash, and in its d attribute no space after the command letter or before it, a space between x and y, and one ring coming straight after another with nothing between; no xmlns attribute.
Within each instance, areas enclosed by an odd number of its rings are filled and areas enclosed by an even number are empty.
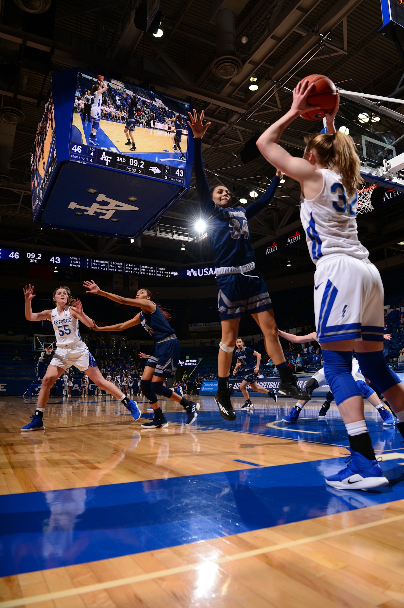
<svg viewBox="0 0 404 608"><path fill-rule="evenodd" d="M55 302L56 307L42 310L41 313L33 313L31 306L31 302L35 298L33 287L33 285L29 285L28 287L25 285L25 289L22 290L25 297L25 319L27 321L50 320L53 330L55 330L56 351L42 380L36 412L31 416L31 422L27 426L22 427L21 430L44 429L43 416L49 399L50 389L52 389L56 380L67 368L72 365L75 365L78 370L84 371L96 385L109 392L116 399L120 399L130 413L132 413L133 420L138 420L141 413L136 401L130 401L119 389L116 389L116 387L103 378L95 359L89 352L86 344L81 340L78 328L79 320L90 328L94 326L94 322L83 313L80 300L72 298L68 287L58 287L53 292L53 302Z"/></svg>

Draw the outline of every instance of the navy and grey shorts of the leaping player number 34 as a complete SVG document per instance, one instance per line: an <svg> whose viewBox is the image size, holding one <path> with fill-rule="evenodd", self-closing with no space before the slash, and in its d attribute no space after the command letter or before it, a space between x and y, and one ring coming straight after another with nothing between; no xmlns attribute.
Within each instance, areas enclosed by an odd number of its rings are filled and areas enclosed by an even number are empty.
<svg viewBox="0 0 404 608"><path fill-rule="evenodd" d="M272 308L263 278L256 268L247 274L221 274L216 277L217 307L220 320L238 319L247 311L262 313Z"/></svg>

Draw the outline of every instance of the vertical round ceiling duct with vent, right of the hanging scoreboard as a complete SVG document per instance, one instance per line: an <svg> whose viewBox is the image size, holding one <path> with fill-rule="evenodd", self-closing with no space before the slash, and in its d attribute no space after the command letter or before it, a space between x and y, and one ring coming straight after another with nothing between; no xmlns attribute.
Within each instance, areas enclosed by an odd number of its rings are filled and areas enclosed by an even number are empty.
<svg viewBox="0 0 404 608"><path fill-rule="evenodd" d="M216 14L217 58L212 72L219 78L234 78L243 67L235 50L235 15L231 9L220 9Z"/></svg>

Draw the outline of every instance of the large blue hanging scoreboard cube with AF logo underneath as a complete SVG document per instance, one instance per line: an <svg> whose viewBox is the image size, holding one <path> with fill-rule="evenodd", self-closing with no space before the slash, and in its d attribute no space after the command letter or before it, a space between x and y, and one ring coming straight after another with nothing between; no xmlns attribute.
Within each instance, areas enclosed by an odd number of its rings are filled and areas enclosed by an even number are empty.
<svg viewBox="0 0 404 608"><path fill-rule="evenodd" d="M94 137L84 95L94 103L97 88L103 94ZM129 109L135 128L127 134ZM31 153L34 221L138 237L189 189L189 109L184 100L109 75L79 68L55 72ZM180 148L172 139L175 119L181 125Z"/></svg>

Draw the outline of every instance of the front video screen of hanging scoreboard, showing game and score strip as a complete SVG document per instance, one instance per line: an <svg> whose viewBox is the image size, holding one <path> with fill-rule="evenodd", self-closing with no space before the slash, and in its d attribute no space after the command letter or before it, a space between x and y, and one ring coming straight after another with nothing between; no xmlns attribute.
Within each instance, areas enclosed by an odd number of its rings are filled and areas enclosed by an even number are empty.
<svg viewBox="0 0 404 608"><path fill-rule="evenodd" d="M188 111L169 95L79 72L70 161L183 185Z"/></svg>

